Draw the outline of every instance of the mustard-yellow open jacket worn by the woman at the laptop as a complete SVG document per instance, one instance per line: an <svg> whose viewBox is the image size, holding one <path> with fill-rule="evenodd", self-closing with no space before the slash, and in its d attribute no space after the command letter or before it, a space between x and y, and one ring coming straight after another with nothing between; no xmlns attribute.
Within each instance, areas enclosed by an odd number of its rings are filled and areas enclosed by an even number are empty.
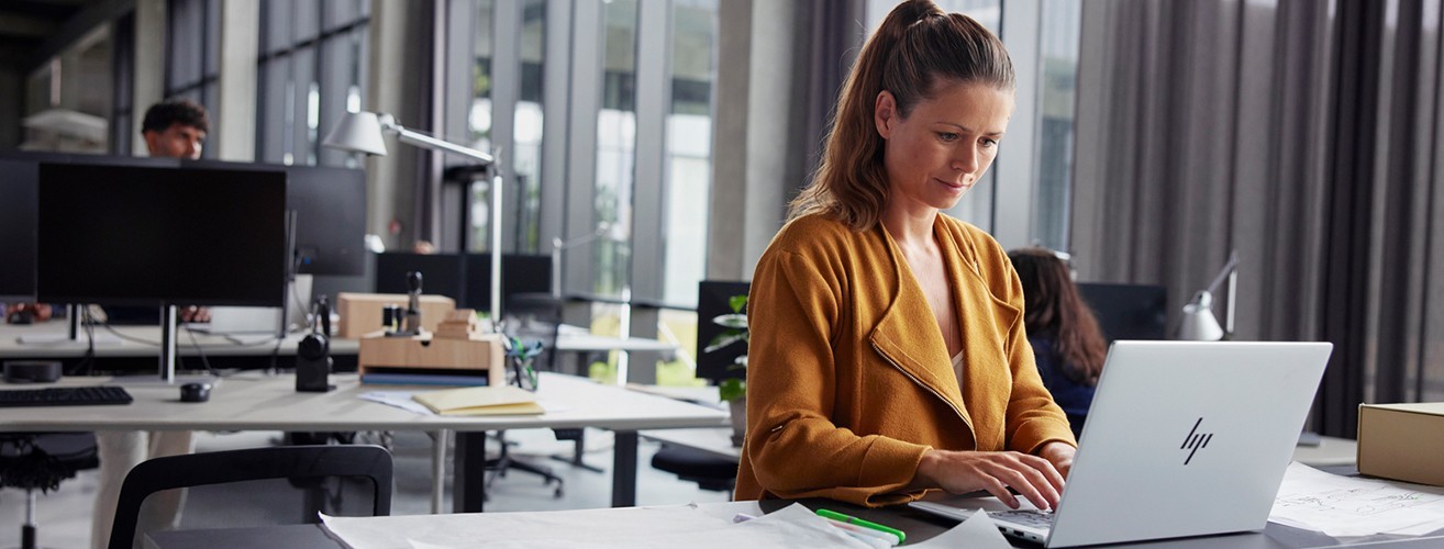
<svg viewBox="0 0 1444 549"><path fill-rule="evenodd" d="M1022 327L1022 287L988 233L939 215L963 339L963 386L921 287L878 225L793 220L758 261L748 298L747 441L736 499L829 497L881 506L923 452L1076 445Z"/></svg>

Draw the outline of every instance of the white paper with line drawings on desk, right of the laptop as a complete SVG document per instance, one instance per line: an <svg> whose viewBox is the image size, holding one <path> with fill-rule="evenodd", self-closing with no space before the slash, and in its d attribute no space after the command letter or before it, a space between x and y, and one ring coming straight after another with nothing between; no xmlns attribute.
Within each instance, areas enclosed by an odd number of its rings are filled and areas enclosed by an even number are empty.
<svg viewBox="0 0 1444 549"><path fill-rule="evenodd" d="M1444 527L1444 488L1340 477L1295 461L1268 520L1330 537L1419 536Z"/></svg>

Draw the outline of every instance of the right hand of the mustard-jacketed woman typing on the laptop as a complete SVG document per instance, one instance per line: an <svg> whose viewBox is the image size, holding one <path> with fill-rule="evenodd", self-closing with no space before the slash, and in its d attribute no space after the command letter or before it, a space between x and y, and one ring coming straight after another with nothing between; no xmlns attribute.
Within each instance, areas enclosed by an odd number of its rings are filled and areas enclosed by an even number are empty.
<svg viewBox="0 0 1444 549"><path fill-rule="evenodd" d="M943 488L953 494L986 490L1018 509L1014 488L1038 509L1057 509L1063 476L1048 460L1022 452L928 450L917 465L913 487Z"/></svg>

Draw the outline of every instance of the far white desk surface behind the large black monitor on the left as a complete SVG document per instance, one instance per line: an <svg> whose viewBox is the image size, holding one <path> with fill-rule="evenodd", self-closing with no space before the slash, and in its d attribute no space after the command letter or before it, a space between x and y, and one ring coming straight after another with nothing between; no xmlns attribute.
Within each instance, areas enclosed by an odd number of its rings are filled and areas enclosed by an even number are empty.
<svg viewBox="0 0 1444 549"><path fill-rule="evenodd" d="M42 343L20 343L20 337L30 336L64 336L69 330L65 321L49 321L40 324L0 324L0 359L69 359L85 354L88 342L81 333L78 340L56 340ZM101 357L131 357L160 354L159 326L116 326L116 331L133 337L139 342L116 337L103 327L95 327L95 356ZM192 342L193 337L193 342ZM237 340L227 336L211 336L199 331L176 330L176 353L180 356L196 356L196 344L206 356L260 356L270 354L276 347L276 339L266 334L240 334ZM296 354L296 343L302 334L287 336L280 346L279 354ZM144 342L144 343L143 343ZM357 340L331 339L332 354L355 354L361 344Z"/></svg>

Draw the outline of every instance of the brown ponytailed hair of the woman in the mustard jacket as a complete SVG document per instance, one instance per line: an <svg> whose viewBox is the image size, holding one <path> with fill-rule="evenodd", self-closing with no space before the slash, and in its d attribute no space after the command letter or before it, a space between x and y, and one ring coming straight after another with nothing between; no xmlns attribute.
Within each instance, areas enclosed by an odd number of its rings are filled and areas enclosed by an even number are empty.
<svg viewBox="0 0 1444 549"><path fill-rule="evenodd" d="M931 99L941 81L1014 89L1002 40L972 17L943 13L931 0L908 0L888 13L842 86L827 147L813 183L788 206L787 219L823 213L853 231L871 229L888 199L882 135L874 107L884 89L907 117Z"/></svg>

